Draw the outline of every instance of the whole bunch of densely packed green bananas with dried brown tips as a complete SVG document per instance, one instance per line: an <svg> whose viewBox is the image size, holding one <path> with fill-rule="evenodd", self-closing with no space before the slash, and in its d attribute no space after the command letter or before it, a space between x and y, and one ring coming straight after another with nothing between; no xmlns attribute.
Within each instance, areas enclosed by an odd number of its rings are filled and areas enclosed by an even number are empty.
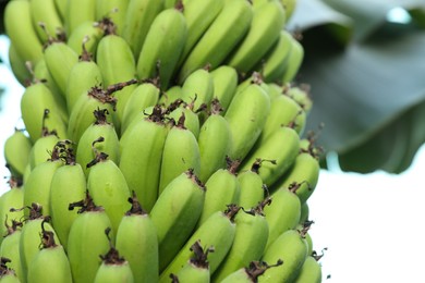
<svg viewBox="0 0 425 283"><path fill-rule="evenodd" d="M320 282L293 5L10 1L0 282Z"/></svg>

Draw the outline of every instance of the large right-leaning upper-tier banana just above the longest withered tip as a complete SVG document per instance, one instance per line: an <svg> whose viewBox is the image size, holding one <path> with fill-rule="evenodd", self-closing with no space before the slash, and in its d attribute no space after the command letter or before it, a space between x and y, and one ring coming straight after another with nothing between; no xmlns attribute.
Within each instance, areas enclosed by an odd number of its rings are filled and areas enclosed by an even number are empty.
<svg viewBox="0 0 425 283"><path fill-rule="evenodd" d="M139 79L158 76L167 89L183 51L187 26L180 7L161 11L151 23L137 59Z"/></svg>

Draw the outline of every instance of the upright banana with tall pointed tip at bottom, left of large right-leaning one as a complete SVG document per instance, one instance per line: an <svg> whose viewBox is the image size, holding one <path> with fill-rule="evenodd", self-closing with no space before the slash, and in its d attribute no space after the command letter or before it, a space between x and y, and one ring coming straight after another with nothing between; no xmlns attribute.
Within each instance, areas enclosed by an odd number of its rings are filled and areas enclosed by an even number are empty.
<svg viewBox="0 0 425 283"><path fill-rule="evenodd" d="M129 261L134 281L158 281L158 236L149 214L142 209L134 192L129 198L132 207L118 226L116 246Z"/></svg>

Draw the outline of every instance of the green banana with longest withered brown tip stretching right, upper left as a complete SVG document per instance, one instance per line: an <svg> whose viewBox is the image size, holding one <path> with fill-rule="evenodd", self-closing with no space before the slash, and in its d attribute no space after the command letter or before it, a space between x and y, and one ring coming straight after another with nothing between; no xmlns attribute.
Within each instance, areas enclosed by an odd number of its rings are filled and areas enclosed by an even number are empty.
<svg viewBox="0 0 425 283"><path fill-rule="evenodd" d="M137 83L137 81L131 79L129 82L109 85L107 89L94 86L86 95L82 95L75 102L70 114L68 135L71 137L71 140L78 143L87 127L96 122L96 118L93 115L93 112L96 109L107 109L109 113L112 113L116 110L117 104L117 98L113 97L112 94L135 83ZM111 123L112 120L113 118L108 122Z"/></svg>

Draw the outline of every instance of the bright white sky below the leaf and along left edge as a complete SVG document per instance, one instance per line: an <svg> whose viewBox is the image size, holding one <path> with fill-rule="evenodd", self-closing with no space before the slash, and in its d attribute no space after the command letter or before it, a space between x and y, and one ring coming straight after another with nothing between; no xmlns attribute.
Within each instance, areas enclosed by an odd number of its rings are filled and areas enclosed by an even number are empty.
<svg viewBox="0 0 425 283"><path fill-rule="evenodd" d="M0 36L0 56L7 58L7 38ZM0 86L8 85L0 111L0 177L3 145L20 121L22 87L0 66ZM376 283L425 282L425 147L412 168L399 175L342 173L336 168L320 173L308 200L311 230L317 251L327 247L323 263L324 282ZM1 179L0 195L7 190ZM326 280L326 275L331 278Z"/></svg>

